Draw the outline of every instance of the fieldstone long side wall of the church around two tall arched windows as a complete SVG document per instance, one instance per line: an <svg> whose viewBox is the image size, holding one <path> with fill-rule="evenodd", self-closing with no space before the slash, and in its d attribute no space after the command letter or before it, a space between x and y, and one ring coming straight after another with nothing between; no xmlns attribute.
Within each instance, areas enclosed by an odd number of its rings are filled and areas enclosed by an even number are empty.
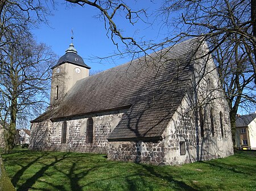
<svg viewBox="0 0 256 191"><path fill-rule="evenodd" d="M109 133L117 126L125 111L98 113L94 116L74 117L67 122L67 139L61 143L64 120L43 121L32 124L31 150L75 151L107 154ZM86 143L86 125L89 117L93 119L93 143Z"/></svg>

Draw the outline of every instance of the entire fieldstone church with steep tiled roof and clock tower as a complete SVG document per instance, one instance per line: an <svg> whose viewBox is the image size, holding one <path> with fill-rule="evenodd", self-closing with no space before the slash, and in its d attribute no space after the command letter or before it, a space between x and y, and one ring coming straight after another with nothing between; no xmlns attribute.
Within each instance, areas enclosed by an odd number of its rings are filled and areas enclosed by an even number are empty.
<svg viewBox="0 0 256 191"><path fill-rule="evenodd" d="M233 154L229 108L208 46L190 39L89 76L73 44L52 67L30 150L177 165Z"/></svg>

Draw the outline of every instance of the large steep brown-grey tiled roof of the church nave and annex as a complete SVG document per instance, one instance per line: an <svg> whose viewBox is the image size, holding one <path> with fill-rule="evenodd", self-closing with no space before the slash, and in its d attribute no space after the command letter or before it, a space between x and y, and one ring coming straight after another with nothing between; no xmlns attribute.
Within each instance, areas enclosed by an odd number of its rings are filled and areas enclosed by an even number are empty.
<svg viewBox="0 0 256 191"><path fill-rule="evenodd" d="M191 86L199 39L177 44L79 80L57 109L32 122L127 108L109 141L160 139Z"/></svg>

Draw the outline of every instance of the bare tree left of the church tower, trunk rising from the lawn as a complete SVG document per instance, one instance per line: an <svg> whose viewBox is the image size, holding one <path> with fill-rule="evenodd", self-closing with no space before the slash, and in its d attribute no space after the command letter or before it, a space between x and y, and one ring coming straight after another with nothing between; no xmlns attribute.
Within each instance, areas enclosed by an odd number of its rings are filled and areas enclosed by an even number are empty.
<svg viewBox="0 0 256 191"><path fill-rule="evenodd" d="M55 55L44 44L36 44L15 34L14 41L0 50L3 56L0 76L1 120L5 126L6 147L9 153L14 144L17 118L29 121L47 105L50 67Z"/></svg>

